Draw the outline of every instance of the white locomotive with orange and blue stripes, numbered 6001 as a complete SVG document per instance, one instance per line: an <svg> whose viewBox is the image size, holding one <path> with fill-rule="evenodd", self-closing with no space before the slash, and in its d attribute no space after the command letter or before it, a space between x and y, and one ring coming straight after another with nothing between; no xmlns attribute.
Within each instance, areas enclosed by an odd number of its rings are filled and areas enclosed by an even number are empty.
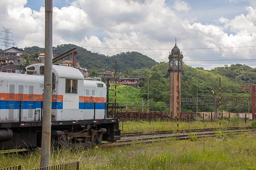
<svg viewBox="0 0 256 170"><path fill-rule="evenodd" d="M44 64L21 74L0 72L0 149L40 147ZM76 68L52 65L51 142L54 146L120 139L117 115L108 117L107 87Z"/></svg>

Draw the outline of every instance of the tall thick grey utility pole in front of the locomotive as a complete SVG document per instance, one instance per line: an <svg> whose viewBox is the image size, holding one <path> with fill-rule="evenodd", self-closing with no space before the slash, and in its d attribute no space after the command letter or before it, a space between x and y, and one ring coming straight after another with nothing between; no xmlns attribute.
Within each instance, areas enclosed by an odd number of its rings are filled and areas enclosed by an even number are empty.
<svg viewBox="0 0 256 170"><path fill-rule="evenodd" d="M41 167L50 166L52 118L52 0L45 0L44 112Z"/></svg>

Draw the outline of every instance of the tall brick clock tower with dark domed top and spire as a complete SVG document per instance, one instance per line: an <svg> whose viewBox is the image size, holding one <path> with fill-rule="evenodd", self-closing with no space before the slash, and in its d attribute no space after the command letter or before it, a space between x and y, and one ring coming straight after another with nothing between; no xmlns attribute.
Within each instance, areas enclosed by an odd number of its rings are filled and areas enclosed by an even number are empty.
<svg viewBox="0 0 256 170"><path fill-rule="evenodd" d="M180 115L180 78L181 71L183 70L183 55L180 53L180 49L177 47L176 42L168 58L168 71L170 73L170 115L172 114L172 117L175 117Z"/></svg>

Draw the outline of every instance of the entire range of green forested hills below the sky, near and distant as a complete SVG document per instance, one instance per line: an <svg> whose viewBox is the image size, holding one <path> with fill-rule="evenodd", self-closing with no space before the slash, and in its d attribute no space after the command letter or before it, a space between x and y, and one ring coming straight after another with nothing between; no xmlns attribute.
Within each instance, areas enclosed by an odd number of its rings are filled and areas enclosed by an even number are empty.
<svg viewBox="0 0 256 170"><path fill-rule="evenodd" d="M138 52L126 52L113 56L92 53L82 47L64 44L53 48L54 56L58 56L72 48L77 48L77 61L88 69L114 70L117 59L117 71L123 72L125 77L143 77L138 88L118 85L117 102L128 109L141 110L142 101L144 110L167 111L169 107L169 73L168 63L157 63L146 55ZM25 48L29 54L42 52L43 48ZM241 85L256 83L256 69L246 65L233 64L217 67L212 70L193 68L183 63L181 75L181 98L219 97L219 78L221 78L221 97L247 97L248 91L240 90ZM113 85L110 90L110 102L114 99ZM214 93L213 93L213 92ZM249 91L249 96L252 92ZM149 102L147 102L149 97ZM196 111L196 102L181 103L182 111ZM214 112L215 102L198 102L198 111ZM221 109L228 112L248 112L248 101L225 101ZM252 104L250 102L250 110Z"/></svg>

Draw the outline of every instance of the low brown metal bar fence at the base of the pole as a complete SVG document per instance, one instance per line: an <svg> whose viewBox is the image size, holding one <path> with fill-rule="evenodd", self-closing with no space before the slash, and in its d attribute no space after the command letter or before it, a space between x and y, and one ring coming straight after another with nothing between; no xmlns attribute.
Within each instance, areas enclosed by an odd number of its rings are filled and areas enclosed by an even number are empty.
<svg viewBox="0 0 256 170"><path fill-rule="evenodd" d="M6 168L0 168L0 170L21 170L21 166L10 166ZM52 165L30 170L79 170L79 162L70 162L66 164Z"/></svg>

